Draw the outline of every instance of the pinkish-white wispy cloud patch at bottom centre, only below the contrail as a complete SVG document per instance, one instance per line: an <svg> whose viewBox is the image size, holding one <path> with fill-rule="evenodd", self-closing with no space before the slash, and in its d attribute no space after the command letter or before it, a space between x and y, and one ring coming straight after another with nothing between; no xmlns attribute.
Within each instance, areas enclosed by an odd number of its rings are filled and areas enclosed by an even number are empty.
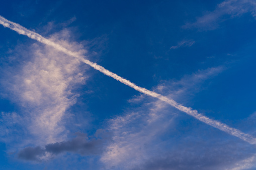
<svg viewBox="0 0 256 170"><path fill-rule="evenodd" d="M162 101L150 102L110 120L108 130L113 132L113 142L101 157L106 168L136 168L152 156L150 152L158 147L158 144L152 147L152 143L170 127L177 115L170 114L175 111L167 106Z"/></svg>

